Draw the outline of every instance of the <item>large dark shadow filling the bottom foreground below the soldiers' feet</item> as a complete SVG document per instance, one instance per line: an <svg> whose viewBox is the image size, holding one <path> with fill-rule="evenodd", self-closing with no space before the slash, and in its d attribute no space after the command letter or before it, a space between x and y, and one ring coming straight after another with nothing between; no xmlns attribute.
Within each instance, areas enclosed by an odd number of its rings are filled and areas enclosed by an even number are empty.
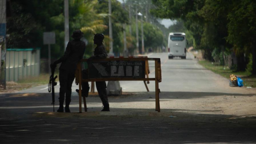
<svg viewBox="0 0 256 144"><path fill-rule="evenodd" d="M125 111L124 109L123 111ZM116 111L116 109L113 109ZM129 111L129 109L127 109ZM148 111L148 109L132 109ZM110 112L104 112L110 113ZM172 113L1 118L1 143L255 143L255 117ZM171 113L169 113L171 114ZM63 116L64 115L64 116ZM65 117L65 115L71 115ZM83 115L83 113L81 114Z"/></svg>

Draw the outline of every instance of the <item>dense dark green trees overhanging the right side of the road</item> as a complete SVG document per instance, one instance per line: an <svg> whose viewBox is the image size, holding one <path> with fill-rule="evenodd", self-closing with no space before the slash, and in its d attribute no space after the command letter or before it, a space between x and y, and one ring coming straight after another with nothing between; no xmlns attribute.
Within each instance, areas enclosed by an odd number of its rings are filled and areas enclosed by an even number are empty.
<svg viewBox="0 0 256 144"><path fill-rule="evenodd" d="M194 49L201 50L204 59L224 61L229 69L250 69L256 75L255 0L152 1L155 7L151 13L183 24L193 37Z"/></svg>

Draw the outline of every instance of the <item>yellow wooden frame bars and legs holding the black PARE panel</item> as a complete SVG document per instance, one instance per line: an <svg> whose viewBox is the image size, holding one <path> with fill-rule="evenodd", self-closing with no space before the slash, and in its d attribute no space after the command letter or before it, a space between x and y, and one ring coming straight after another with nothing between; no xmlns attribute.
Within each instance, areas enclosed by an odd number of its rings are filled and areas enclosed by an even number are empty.
<svg viewBox="0 0 256 144"><path fill-rule="evenodd" d="M82 79L82 62L86 62L87 59L82 59L77 64L77 70L75 74L75 81L79 84L79 113L82 112L82 82L83 81L155 81L155 110L160 112L160 102L159 102L159 82L162 81L161 76L161 61L160 58L146 58L146 57L138 57L138 58L106 58L106 59L99 59L95 61L155 61L155 77L148 78L147 71L149 70L148 65L145 65L145 74L147 75L146 78L93 78L93 79ZM87 111L86 99L83 97L84 108L85 112Z"/></svg>

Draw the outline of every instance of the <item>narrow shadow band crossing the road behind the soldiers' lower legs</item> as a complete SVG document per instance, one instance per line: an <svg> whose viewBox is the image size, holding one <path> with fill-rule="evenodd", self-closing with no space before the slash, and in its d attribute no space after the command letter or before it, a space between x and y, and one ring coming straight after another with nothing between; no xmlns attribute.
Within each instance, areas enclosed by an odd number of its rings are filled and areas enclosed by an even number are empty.
<svg viewBox="0 0 256 144"><path fill-rule="evenodd" d="M203 97L214 97L214 96L236 96L236 97L251 97L255 94L238 94L238 93L218 93L218 92L161 92L160 101L167 101L171 99L195 99ZM59 95L55 95L55 104L58 104ZM0 109L3 107L30 107L30 106L51 106L52 101L51 93L8 93L0 95ZM87 103L89 102L100 102L98 101L98 95L89 95ZM147 102L155 101L155 92L125 92L121 96L109 96L110 102L124 103L124 102ZM78 104L78 94L72 93L71 103Z"/></svg>

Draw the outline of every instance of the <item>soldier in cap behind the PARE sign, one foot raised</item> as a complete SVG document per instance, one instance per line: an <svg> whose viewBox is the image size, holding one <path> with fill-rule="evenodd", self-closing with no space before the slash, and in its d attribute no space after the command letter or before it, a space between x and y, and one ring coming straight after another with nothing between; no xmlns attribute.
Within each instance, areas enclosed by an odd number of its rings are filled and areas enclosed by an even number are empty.
<svg viewBox="0 0 256 144"><path fill-rule="evenodd" d="M105 49L105 46L103 45L103 39L104 35L101 33L97 33L94 35L93 42L94 44L97 45L97 47L94 49L94 56L90 57L87 60L87 63L90 63L94 59L104 59L107 58L107 52ZM88 70L85 69L82 71L83 73L83 79L88 78ZM107 98L107 86L105 81L96 81L96 88L99 93L99 97L101 98L102 104L104 108L101 111L109 111L109 102ZM83 97L88 97L88 92L89 92L89 85L88 82L83 82L82 83L82 96ZM76 89L77 93L79 93L79 90Z"/></svg>

